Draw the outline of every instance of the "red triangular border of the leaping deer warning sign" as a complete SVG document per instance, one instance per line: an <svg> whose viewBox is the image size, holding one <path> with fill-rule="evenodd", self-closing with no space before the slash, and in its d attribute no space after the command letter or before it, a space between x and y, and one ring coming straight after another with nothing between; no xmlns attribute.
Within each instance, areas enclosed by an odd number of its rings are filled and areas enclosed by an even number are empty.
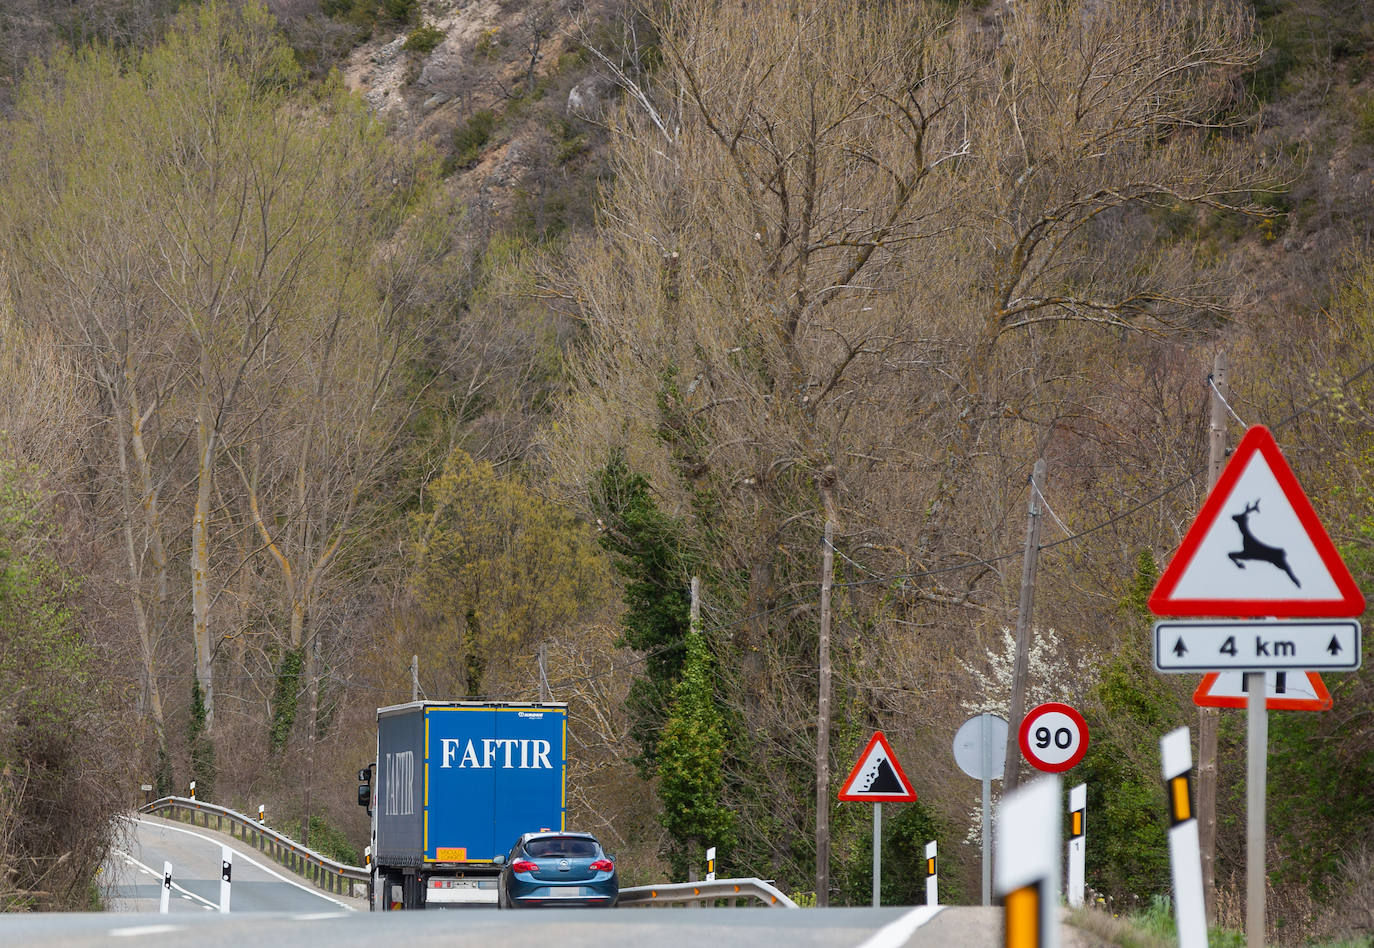
<svg viewBox="0 0 1374 948"><path fill-rule="evenodd" d="M1206 539L1212 525L1223 515L1223 508L1231 499L1235 482L1245 473L1250 458L1259 453L1270 467L1270 473L1282 489L1285 499L1307 532L1340 594L1336 599L1235 599L1235 598L1175 598L1173 591L1193 565L1198 547ZM1227 460L1226 469L1216 485L1208 493L1197 518L1183 536L1183 543L1169 561L1156 583L1149 599L1150 611L1156 616L1215 616L1241 618L1348 618L1364 611L1364 595L1331 543L1326 528L1318 518L1311 501L1303 492L1293 469L1279 451L1274 436L1263 425L1246 430L1235 452Z"/></svg>

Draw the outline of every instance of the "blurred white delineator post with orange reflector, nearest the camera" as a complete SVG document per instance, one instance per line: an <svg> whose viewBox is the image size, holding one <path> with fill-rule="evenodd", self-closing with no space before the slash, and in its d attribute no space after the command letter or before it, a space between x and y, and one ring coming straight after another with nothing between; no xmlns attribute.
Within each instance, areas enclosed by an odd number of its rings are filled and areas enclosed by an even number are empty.
<svg viewBox="0 0 1374 948"><path fill-rule="evenodd" d="M993 874L1007 948L1058 948L1062 806L1057 774L1007 794L998 806Z"/></svg>

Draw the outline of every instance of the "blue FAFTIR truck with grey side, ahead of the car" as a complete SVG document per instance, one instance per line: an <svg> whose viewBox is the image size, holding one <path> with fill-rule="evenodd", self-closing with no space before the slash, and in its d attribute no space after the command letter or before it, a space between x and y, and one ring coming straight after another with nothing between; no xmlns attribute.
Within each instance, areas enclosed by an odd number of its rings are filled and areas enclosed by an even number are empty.
<svg viewBox="0 0 1374 948"><path fill-rule="evenodd" d="M359 778L374 910L496 905L497 856L563 830L567 706L412 701L376 712Z"/></svg>

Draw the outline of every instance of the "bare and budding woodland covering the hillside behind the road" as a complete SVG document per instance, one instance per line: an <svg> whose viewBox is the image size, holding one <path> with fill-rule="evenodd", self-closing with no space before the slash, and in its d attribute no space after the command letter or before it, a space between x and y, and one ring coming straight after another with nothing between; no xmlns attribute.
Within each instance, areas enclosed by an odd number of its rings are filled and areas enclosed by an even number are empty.
<svg viewBox="0 0 1374 948"><path fill-rule="evenodd" d="M1274 430L1374 588L1370 12L7 3L0 901L98 900L142 783L357 861L412 690L567 702L569 824L627 882L716 845L815 896L827 518L831 780L882 728L921 795L885 900L929 838L971 899L949 743L1010 701L1039 458L1030 697L1091 725L1090 885L1167 892L1197 713L1143 600L1219 352L1231 442ZM1329 684L1271 723L1282 937L1374 927L1374 679ZM868 811L829 820L863 903Z"/></svg>

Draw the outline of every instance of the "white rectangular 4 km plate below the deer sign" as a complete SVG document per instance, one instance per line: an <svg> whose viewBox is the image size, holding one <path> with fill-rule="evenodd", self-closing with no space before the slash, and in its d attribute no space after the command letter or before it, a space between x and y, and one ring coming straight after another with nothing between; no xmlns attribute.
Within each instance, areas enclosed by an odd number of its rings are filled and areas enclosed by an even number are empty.
<svg viewBox="0 0 1374 948"><path fill-rule="evenodd" d="M1360 624L1171 621L1154 624L1160 672L1304 672L1360 666Z"/></svg>

